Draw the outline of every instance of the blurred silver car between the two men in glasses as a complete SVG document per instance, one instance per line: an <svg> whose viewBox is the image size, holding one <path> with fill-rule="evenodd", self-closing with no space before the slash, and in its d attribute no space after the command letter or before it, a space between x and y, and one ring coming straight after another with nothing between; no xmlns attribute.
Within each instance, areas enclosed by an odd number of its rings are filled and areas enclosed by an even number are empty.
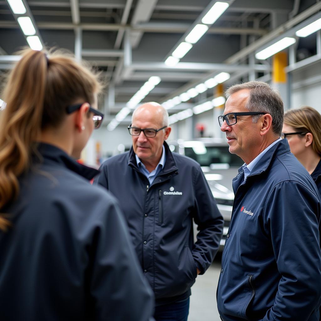
<svg viewBox="0 0 321 321"><path fill-rule="evenodd" d="M172 152L193 158L201 165L216 199L217 207L224 218L224 230L220 242L220 250L222 250L230 225L234 200L232 179L238 174L239 167L244 164L243 160L231 154L226 140L220 138L197 138L193 141L178 139L168 144Z"/></svg>

